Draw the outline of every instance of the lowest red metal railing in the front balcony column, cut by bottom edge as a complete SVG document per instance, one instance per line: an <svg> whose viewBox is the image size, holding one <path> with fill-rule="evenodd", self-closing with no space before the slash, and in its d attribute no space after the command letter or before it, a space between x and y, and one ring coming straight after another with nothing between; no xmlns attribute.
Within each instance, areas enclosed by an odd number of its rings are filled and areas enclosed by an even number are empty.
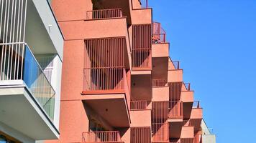
<svg viewBox="0 0 256 143"><path fill-rule="evenodd" d="M118 131L83 132L83 143L122 142Z"/></svg>

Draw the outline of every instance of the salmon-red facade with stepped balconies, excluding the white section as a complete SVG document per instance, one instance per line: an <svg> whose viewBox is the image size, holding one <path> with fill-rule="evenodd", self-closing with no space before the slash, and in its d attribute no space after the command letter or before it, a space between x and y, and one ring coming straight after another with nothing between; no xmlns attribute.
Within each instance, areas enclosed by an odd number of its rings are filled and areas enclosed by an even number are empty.
<svg viewBox="0 0 256 143"><path fill-rule="evenodd" d="M52 0L65 36L60 139L199 143L202 108L140 0Z"/></svg>

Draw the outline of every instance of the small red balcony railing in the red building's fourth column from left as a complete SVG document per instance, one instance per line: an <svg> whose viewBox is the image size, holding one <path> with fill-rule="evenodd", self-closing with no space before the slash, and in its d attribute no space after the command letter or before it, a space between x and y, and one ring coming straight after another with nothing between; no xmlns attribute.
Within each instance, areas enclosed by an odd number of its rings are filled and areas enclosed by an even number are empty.
<svg viewBox="0 0 256 143"><path fill-rule="evenodd" d="M170 101L169 102L169 118L183 117L183 103L181 101Z"/></svg>

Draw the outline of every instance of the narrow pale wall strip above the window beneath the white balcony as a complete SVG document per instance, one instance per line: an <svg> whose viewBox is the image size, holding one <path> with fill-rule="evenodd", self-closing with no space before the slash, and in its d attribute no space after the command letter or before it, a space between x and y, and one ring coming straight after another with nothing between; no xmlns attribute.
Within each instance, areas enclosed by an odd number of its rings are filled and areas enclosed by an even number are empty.
<svg viewBox="0 0 256 143"><path fill-rule="evenodd" d="M11 137L14 137L15 139L19 140L20 142L24 143L35 143L35 140L25 136L21 132L18 132L15 129L12 129L11 127L7 126L6 124L0 122L0 131L4 132L5 134L8 134Z"/></svg>

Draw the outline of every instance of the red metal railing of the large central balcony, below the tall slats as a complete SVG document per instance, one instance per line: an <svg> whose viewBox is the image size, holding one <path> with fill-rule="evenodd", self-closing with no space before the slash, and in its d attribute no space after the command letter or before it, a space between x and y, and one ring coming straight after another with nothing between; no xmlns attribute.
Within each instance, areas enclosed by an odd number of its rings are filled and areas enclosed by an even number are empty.
<svg viewBox="0 0 256 143"><path fill-rule="evenodd" d="M83 69L83 91L124 89L124 67L102 67Z"/></svg>

